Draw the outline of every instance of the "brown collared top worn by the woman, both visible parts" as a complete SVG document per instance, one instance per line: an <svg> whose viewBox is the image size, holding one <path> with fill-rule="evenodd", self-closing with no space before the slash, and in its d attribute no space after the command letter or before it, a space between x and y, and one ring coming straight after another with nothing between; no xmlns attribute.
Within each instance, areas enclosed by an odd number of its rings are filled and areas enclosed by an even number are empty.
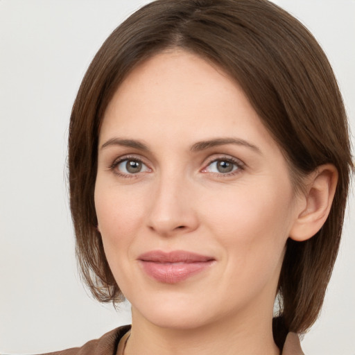
<svg viewBox="0 0 355 355"><path fill-rule="evenodd" d="M130 325L116 328L96 340L90 340L82 347L51 352L42 355L116 355L119 341L130 330ZM282 355L304 355L300 340L295 333L288 333Z"/></svg>

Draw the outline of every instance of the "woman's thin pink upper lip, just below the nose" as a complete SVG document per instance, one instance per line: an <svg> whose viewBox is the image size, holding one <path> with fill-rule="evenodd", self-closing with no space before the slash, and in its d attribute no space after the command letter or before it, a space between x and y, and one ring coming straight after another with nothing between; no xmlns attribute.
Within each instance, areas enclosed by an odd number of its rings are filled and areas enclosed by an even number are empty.
<svg viewBox="0 0 355 355"><path fill-rule="evenodd" d="M163 252L162 250L152 250L139 255L138 260L150 261L155 263L196 263L212 261L213 257L187 252L185 250L174 250L172 252Z"/></svg>

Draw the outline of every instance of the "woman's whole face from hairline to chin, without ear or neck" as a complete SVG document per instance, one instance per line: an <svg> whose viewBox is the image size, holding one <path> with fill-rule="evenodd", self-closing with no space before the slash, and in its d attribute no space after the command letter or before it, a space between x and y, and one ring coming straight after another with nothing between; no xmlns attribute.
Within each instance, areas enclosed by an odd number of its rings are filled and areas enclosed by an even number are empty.
<svg viewBox="0 0 355 355"><path fill-rule="evenodd" d="M133 322L270 320L295 204L282 152L218 67L165 51L114 94L95 206Z"/></svg>

